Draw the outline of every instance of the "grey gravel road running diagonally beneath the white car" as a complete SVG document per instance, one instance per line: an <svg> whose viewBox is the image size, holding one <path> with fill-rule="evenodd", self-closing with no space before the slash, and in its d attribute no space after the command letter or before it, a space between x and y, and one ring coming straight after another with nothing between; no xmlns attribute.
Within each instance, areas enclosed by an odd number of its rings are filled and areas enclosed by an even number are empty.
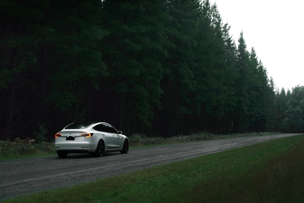
<svg viewBox="0 0 304 203"><path fill-rule="evenodd" d="M0 161L0 201L294 135L300 134L130 148L128 154L105 153L99 158L69 154L66 159L50 156Z"/></svg>

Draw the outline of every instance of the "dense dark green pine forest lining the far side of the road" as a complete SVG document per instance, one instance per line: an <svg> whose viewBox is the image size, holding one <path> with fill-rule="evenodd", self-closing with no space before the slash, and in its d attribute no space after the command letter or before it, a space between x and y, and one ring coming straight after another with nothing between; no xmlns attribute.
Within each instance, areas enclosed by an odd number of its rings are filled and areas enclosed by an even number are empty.
<svg viewBox="0 0 304 203"><path fill-rule="evenodd" d="M276 88L229 31L208 0L2 0L0 140L52 140L76 121L162 137L303 132L304 87Z"/></svg>

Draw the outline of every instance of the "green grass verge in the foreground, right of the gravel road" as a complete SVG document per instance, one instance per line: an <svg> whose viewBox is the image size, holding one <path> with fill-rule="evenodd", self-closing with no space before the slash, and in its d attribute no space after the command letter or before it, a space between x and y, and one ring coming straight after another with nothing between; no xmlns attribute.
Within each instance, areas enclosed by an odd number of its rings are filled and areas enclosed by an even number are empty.
<svg viewBox="0 0 304 203"><path fill-rule="evenodd" d="M4 202L304 202L293 136Z"/></svg>

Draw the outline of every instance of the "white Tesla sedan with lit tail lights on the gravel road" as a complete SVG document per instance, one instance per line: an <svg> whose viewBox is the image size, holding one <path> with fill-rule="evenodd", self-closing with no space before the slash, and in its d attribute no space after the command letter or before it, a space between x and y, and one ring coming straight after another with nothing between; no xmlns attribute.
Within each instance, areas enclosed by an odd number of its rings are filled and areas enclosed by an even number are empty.
<svg viewBox="0 0 304 203"><path fill-rule="evenodd" d="M55 135L55 149L59 157L68 153L90 153L100 157L104 152L129 151L129 140L121 131L104 122L69 124Z"/></svg>

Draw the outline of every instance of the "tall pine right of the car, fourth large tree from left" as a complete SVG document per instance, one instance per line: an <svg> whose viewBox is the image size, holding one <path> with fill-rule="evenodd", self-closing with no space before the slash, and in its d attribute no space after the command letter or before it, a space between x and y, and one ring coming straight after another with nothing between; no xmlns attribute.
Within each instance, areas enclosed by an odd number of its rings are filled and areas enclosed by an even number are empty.
<svg viewBox="0 0 304 203"><path fill-rule="evenodd" d="M200 46L199 20L201 19L199 1L168 1L168 12L173 19L168 27L169 58L165 62L164 78L161 87L164 89L162 115L163 131L166 135L178 135L188 128L190 123L185 119L193 112L195 106L199 65L195 50ZM163 116L163 118L165 118ZM185 121L187 120L187 121ZM187 122L187 123L185 123Z"/></svg>

